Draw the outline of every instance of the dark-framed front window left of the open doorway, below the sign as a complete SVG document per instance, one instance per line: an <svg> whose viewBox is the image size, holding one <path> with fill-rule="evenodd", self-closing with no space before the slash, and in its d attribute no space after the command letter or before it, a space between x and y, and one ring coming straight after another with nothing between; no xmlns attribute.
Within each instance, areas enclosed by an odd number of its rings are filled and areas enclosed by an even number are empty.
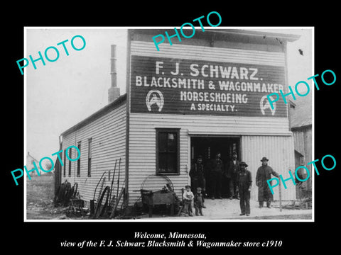
<svg viewBox="0 0 341 255"><path fill-rule="evenodd" d="M180 174L180 130L156 128L156 174Z"/></svg>

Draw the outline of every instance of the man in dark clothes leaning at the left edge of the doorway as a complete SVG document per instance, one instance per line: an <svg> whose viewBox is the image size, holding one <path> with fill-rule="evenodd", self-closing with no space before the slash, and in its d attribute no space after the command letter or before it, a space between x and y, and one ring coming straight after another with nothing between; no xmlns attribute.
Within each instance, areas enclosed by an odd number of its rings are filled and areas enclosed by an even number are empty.
<svg viewBox="0 0 341 255"><path fill-rule="evenodd" d="M203 198L206 194L206 179L204 166L202 165L202 156L197 157L197 162L190 167L190 183L194 193L197 192L198 187L201 188ZM205 205L202 205L202 207L205 208Z"/></svg>

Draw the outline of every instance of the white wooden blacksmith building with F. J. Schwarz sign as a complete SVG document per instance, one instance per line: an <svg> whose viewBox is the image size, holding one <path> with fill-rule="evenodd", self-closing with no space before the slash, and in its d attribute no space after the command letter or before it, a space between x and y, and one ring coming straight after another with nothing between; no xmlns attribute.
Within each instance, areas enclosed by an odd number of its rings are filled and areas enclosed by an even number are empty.
<svg viewBox="0 0 341 255"><path fill-rule="evenodd" d="M165 30L129 30L126 94L63 132L63 149L75 145L81 157L62 167L62 181L77 182L89 201L104 172L112 182L121 159L119 188L132 205L141 187L158 191L167 180L180 195L191 162L201 154L206 163L218 151L224 162L237 152L253 179L262 157L288 177L295 166L288 106L278 101L272 110L266 95L287 91L286 43L298 37L205 29L172 45L165 40L158 51L151 40L158 34ZM295 186L282 191L283 200L295 196Z"/></svg>

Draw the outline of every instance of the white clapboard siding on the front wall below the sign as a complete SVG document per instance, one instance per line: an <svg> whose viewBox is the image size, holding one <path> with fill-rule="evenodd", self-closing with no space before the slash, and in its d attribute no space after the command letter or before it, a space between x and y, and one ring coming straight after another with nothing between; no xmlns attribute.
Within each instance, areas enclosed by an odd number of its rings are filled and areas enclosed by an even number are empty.
<svg viewBox="0 0 341 255"><path fill-rule="evenodd" d="M271 123L271 125L269 124ZM141 183L149 176L156 174L156 128L180 128L180 176L168 176L173 182L175 191L180 195L183 188L190 179L187 169L190 160L190 135L249 135L256 134L256 137L267 137L263 144L255 148L256 152L261 152L261 148L269 147L274 137L281 137L278 140L278 148L285 147L290 152L292 140L291 132L288 132L288 120L286 118L232 118L219 116L201 115L151 115L131 113L129 120L129 191L130 203L134 203L139 198ZM277 132L277 133L276 133ZM274 136L269 136L269 133ZM281 135L285 136L281 136ZM278 136L279 135L279 136ZM253 136L251 136L253 137ZM287 140L289 142L287 142ZM244 141L244 137L243 137ZM252 141L252 140L250 140ZM242 147L249 147L245 140ZM272 146L272 145L271 145ZM271 147L272 148L272 147ZM274 152L278 149L272 148ZM247 159L250 158L249 150L243 152ZM257 154L258 155L258 154ZM272 155L272 154L271 154ZM263 156L261 156L263 157ZM258 159L258 157L257 157ZM289 158L291 159L291 158ZM288 159L288 162L291 162ZM259 161L259 159L258 159ZM259 166L256 162L256 166ZM256 175L254 174L254 178ZM146 189L159 190L166 182L159 177L158 181L146 181Z"/></svg>

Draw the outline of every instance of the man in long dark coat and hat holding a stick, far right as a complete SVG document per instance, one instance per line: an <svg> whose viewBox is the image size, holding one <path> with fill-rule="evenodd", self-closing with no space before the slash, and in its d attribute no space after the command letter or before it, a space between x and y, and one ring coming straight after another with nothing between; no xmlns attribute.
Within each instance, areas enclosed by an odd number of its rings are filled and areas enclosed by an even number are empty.
<svg viewBox="0 0 341 255"><path fill-rule="evenodd" d="M266 206L270 208L271 200L274 200L274 196L272 196L269 185L266 181L271 179L271 174L279 177L276 171L274 171L271 166L268 166L268 161L269 159L263 157L261 159L261 166L256 173L256 186L258 187L259 208L263 207L264 201L266 201Z"/></svg>

